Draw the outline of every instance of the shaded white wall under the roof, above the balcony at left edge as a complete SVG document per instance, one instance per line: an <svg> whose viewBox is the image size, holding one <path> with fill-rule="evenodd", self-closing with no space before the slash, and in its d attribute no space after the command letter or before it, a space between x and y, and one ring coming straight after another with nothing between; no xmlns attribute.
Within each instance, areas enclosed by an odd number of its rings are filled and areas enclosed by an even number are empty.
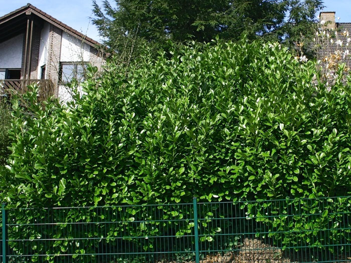
<svg viewBox="0 0 351 263"><path fill-rule="evenodd" d="M23 34L0 43L0 69L20 69L22 66Z"/></svg>

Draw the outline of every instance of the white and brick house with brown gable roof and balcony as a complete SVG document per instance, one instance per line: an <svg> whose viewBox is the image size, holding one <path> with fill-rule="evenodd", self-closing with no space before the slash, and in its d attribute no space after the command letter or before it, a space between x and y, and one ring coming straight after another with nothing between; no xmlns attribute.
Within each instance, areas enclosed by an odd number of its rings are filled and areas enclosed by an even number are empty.
<svg viewBox="0 0 351 263"><path fill-rule="evenodd" d="M101 45L28 4L0 17L0 89L38 83L61 100L65 84L81 81L88 64L101 69Z"/></svg>

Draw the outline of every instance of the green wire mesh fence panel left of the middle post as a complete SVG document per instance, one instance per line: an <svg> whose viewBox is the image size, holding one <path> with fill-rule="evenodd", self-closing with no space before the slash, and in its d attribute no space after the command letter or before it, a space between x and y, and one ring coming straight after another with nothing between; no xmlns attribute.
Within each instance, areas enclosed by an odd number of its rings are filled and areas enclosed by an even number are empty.
<svg viewBox="0 0 351 263"><path fill-rule="evenodd" d="M9 261L163 262L193 257L191 204L11 209Z"/></svg>

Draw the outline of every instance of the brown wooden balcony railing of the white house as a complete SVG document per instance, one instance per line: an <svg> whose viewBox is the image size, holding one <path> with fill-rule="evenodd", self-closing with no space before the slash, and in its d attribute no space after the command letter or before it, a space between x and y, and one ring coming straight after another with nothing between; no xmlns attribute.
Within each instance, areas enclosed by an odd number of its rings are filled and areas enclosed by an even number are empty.
<svg viewBox="0 0 351 263"><path fill-rule="evenodd" d="M51 80L0 80L0 96L11 97L12 94L24 94L32 84L38 85L40 100L46 100L54 94L54 85Z"/></svg>

